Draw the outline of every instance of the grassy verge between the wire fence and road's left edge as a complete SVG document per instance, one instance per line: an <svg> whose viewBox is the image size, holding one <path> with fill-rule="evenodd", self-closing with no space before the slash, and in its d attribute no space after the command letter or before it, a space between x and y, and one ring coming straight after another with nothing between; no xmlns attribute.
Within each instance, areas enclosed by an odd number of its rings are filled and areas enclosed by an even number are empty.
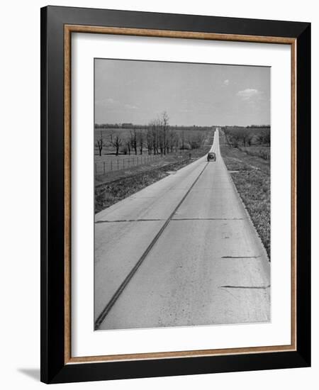
<svg viewBox="0 0 319 390"><path fill-rule="evenodd" d="M197 150L191 150L191 158L164 165L148 165L125 169L124 171L112 172L109 177L104 177L103 184L96 182L95 187L95 213L108 208L118 201L127 198L135 192L157 182L169 175L169 172L177 171L199 157L205 155L210 146L203 146Z"/></svg>

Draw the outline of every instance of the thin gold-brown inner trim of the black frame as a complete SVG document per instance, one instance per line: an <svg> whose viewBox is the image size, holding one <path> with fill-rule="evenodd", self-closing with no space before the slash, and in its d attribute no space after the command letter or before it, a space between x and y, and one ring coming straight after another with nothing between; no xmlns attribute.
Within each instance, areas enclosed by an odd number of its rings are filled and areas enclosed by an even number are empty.
<svg viewBox="0 0 319 390"><path fill-rule="evenodd" d="M276 43L291 46L291 344L260 347L225 348L216 350L187 350L148 352L126 355L101 355L72 357L71 324L71 35L72 33L98 33L135 35L157 38L183 38L198 40L225 40L251 43ZM201 357L218 355L242 355L296 350L296 39L257 35L198 33L175 30L150 30L65 25L65 364L86 362L115 362L123 360L155 360L177 357Z"/></svg>

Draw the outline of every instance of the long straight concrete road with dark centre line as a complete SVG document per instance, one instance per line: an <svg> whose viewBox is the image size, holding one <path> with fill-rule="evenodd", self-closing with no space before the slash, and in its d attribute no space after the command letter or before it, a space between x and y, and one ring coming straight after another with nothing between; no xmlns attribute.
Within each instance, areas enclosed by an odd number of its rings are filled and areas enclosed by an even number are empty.
<svg viewBox="0 0 319 390"><path fill-rule="evenodd" d="M266 252L225 167L202 157L96 214L99 329L270 320Z"/></svg>

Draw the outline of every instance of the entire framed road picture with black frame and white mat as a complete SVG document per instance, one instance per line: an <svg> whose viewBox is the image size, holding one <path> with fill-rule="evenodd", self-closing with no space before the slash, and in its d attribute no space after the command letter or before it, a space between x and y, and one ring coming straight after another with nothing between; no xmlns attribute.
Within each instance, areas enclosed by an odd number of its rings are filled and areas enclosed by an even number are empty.
<svg viewBox="0 0 319 390"><path fill-rule="evenodd" d="M310 23L41 9L41 380L310 366Z"/></svg>

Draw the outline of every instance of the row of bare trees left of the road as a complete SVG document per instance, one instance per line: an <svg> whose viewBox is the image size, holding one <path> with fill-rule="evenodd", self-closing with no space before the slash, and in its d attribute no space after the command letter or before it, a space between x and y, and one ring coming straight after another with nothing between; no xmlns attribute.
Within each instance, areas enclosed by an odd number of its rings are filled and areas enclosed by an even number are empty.
<svg viewBox="0 0 319 390"><path fill-rule="evenodd" d="M180 134L181 133L181 134ZM169 116L164 111L155 121L151 121L147 126L131 128L129 134L123 137L118 131L111 131L106 138L103 138L102 130L96 140L96 147L99 155L102 155L103 147L114 147L116 155L135 154L142 155L167 155L178 149L194 149L200 147L203 142L203 134L193 137L185 137L184 130L178 132L169 126Z"/></svg>

